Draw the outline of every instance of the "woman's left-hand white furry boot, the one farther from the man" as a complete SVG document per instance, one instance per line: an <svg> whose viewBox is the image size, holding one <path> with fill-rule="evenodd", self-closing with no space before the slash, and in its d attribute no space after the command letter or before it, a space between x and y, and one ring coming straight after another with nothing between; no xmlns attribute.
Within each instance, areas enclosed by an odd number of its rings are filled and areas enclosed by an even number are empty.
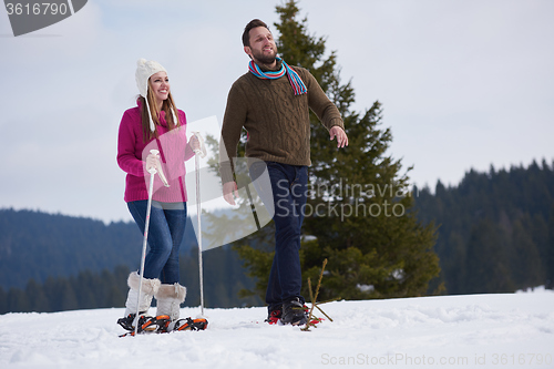
<svg viewBox="0 0 554 369"><path fill-rule="evenodd" d="M117 320L123 328L134 330L134 320L136 310L138 314L146 315L152 304L152 298L160 289L162 283L157 278L142 278L141 298L138 299L138 288L141 287L141 276L133 271L127 278L129 294L125 303L125 316ZM138 306L137 306L138 304Z"/></svg>

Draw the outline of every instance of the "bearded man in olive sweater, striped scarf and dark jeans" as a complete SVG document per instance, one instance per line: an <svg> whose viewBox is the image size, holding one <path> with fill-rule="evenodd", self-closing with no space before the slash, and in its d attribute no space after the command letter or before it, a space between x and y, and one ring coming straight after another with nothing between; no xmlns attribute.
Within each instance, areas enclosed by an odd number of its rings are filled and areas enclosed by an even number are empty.
<svg viewBox="0 0 554 369"><path fill-rule="evenodd" d="M277 57L277 47L266 23L255 19L243 33L244 51L250 57L249 72L230 88L219 147L224 198L235 205L238 197L233 177L233 157L243 127L248 132L246 156L253 181L267 172L273 194L264 196L275 209L275 257L266 293L266 321L304 325L305 299L300 295L300 228L304 221L310 162L311 109L329 130L337 146L348 145L340 113L306 70L289 66ZM260 167L259 163L265 163ZM271 203L271 204L268 204Z"/></svg>

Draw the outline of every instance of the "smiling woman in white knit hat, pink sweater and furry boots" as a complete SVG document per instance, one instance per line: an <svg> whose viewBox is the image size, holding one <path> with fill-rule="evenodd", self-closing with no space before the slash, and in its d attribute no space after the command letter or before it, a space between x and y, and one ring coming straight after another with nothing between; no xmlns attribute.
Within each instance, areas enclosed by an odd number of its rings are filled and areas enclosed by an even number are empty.
<svg viewBox="0 0 554 369"><path fill-rule="evenodd" d="M178 249L186 225L184 162L199 147L194 136L188 144L186 142L185 113L175 106L166 70L155 61L141 59L135 79L141 95L136 100L137 106L125 111L121 120L117 164L127 173L124 199L143 234L148 170L155 167L158 174L154 180L147 239L150 250L144 264L141 296L141 276L133 271L127 279L130 290L125 316L117 320L127 330L134 330L137 310L141 316L146 316L153 297L157 300L157 317L170 316L173 324L179 317L179 305L186 296L186 288L178 283ZM158 150L160 154L151 154L152 148ZM162 177L166 178L167 186Z"/></svg>

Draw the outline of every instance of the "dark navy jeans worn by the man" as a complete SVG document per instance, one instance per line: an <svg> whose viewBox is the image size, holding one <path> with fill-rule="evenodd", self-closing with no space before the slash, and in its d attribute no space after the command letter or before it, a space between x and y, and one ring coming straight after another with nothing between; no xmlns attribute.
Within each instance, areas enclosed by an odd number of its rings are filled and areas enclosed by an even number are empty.
<svg viewBox="0 0 554 369"><path fill-rule="evenodd" d="M275 209L275 257L266 291L268 309L281 308L300 295L302 273L300 268L300 235L308 191L308 167L266 162L273 198L256 187L264 203L273 201ZM257 178L265 170L264 163L250 166L250 177Z"/></svg>

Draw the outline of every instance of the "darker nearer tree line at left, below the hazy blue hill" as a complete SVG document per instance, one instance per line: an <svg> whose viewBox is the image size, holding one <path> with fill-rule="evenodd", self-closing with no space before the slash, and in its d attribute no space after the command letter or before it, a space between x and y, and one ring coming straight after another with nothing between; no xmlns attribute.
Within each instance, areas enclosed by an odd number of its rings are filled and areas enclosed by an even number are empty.
<svg viewBox="0 0 554 369"><path fill-rule="evenodd" d="M197 250L192 250L179 259L181 281L187 287L183 306L195 307L201 304L197 255ZM204 265L206 307L228 308L260 304L255 297L238 297L238 291L249 287L252 281L243 273L235 252L228 247L204 252ZM48 277L44 283L30 279L24 288L4 289L0 286L0 314L124 307L129 274L127 266L117 266L113 270L86 269L75 276Z"/></svg>

